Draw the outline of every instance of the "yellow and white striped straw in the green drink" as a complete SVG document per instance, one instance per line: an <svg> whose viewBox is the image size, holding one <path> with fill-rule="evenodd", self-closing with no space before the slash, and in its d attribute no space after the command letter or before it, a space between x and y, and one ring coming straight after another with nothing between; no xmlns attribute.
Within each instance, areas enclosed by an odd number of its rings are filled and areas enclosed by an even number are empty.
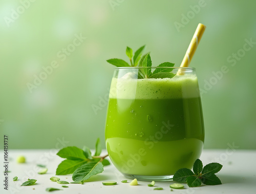
<svg viewBox="0 0 256 194"><path fill-rule="evenodd" d="M190 44L187 48L186 54L181 62L180 67L188 67L189 66L189 63L198 47L198 44L201 40L201 37L204 33L205 28L206 28L206 26L204 26L203 24L201 24L201 23L198 24L195 34L190 41ZM182 69L179 69L177 75L184 75Z"/></svg>

